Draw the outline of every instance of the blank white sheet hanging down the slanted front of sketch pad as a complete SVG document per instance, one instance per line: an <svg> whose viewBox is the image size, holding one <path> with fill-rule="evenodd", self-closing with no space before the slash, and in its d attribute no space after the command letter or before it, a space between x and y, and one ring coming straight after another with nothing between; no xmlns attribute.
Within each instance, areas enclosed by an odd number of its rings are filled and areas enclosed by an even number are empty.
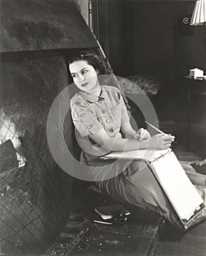
<svg viewBox="0 0 206 256"><path fill-rule="evenodd" d="M151 167L178 216L189 220L203 200L175 154L166 154L165 157L152 162Z"/></svg>

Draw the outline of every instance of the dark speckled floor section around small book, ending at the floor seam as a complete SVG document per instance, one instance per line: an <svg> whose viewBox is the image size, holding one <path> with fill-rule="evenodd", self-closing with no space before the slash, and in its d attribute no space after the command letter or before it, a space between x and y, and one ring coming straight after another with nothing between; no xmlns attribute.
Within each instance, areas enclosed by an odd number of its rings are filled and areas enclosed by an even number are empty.
<svg viewBox="0 0 206 256"><path fill-rule="evenodd" d="M165 223L157 214L124 205L132 214L124 224L94 223L97 206L115 200L87 190L68 219L60 237L45 255L154 255Z"/></svg>

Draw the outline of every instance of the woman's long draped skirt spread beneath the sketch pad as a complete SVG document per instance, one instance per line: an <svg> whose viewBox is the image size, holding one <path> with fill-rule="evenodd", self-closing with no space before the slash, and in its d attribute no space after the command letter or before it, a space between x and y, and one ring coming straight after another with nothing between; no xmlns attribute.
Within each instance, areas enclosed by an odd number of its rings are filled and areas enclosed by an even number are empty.
<svg viewBox="0 0 206 256"><path fill-rule="evenodd" d="M191 165L182 166L205 201L206 176L197 173ZM180 220L173 210L173 206L146 163L143 166L143 162L133 161L129 167L114 178L95 182L95 187L103 194L116 200L155 211L176 227L183 229ZM202 219L205 219L205 216L206 211L203 211L201 216L197 217L194 222L191 222L191 225L202 221Z"/></svg>

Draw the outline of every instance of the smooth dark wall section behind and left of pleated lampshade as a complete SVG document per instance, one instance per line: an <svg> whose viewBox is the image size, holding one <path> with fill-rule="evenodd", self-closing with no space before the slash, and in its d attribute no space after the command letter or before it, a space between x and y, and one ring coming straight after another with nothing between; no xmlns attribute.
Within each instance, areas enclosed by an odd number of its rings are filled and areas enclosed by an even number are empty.
<svg viewBox="0 0 206 256"><path fill-rule="evenodd" d="M199 67L206 72L205 26L189 26L191 1L134 1L134 65L136 73L158 75L173 83Z"/></svg>

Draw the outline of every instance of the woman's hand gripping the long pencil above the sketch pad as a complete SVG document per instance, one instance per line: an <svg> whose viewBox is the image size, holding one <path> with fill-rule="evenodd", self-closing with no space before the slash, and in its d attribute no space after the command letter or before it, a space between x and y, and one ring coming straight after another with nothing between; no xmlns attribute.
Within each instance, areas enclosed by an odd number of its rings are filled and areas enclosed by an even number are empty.
<svg viewBox="0 0 206 256"><path fill-rule="evenodd" d="M172 142L175 140L173 135L154 135L148 139L148 148L167 149L170 148Z"/></svg>

